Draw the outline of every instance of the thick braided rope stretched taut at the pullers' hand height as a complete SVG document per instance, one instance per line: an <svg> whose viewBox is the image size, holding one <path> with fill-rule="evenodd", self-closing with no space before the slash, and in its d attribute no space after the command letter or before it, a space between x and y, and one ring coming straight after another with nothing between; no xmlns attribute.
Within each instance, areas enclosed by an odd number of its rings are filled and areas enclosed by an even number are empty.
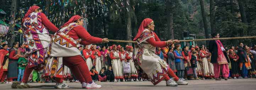
<svg viewBox="0 0 256 90"><path fill-rule="evenodd" d="M191 40L179 40L179 41L180 42L184 42L184 41L209 41L209 40L231 40L231 39L252 39L252 38L256 38L256 36L251 36L251 37L232 37L232 38L191 39ZM119 42L119 43L137 43L137 41L126 41L126 40L111 40L111 39L108 39L108 41Z"/></svg>

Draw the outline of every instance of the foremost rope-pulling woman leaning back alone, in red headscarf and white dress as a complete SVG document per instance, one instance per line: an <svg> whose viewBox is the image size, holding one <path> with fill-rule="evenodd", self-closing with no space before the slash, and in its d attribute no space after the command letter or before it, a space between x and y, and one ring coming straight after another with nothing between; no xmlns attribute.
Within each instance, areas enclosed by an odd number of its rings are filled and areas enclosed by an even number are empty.
<svg viewBox="0 0 256 90"><path fill-rule="evenodd" d="M166 47L172 44L172 40L161 41L155 32L153 32L155 25L154 21L146 18L142 21L136 37L133 39L137 41L135 48L135 64L148 75L151 82L156 85L163 79L166 80L167 86L177 86L178 84L187 85L182 79L179 79L174 72L169 68L166 62L155 54L156 47ZM178 42L178 40L174 40ZM169 76L173 77L170 79Z"/></svg>

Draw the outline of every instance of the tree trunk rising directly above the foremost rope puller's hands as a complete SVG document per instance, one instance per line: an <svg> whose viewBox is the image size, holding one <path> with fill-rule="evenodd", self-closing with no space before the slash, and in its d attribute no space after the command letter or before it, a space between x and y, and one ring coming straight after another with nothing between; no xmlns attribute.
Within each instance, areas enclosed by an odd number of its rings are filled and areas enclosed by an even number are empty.
<svg viewBox="0 0 256 90"><path fill-rule="evenodd" d="M169 34L167 39L174 39L174 31L173 31L173 15L172 15L172 0L166 0L166 8L167 8L167 33Z"/></svg>

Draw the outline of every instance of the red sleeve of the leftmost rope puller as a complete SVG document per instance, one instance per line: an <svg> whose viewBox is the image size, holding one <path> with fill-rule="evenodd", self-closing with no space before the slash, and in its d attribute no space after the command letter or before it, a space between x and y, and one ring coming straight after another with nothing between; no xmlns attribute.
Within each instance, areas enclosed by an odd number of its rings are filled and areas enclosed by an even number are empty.
<svg viewBox="0 0 256 90"><path fill-rule="evenodd" d="M54 24L52 24L49 21L49 19L46 17L44 13L40 13L40 16L41 16L42 24L44 24L44 26L47 27L48 30L52 32L57 32L59 30Z"/></svg>

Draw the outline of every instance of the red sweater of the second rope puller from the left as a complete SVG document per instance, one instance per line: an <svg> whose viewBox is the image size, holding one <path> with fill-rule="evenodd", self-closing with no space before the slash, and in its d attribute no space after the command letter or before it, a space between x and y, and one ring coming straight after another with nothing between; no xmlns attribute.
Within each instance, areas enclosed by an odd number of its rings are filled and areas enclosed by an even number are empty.
<svg viewBox="0 0 256 90"><path fill-rule="evenodd" d="M87 30L83 26L78 25L77 27L74 27L71 31L67 33L71 38L74 40L77 40L79 38L82 38L81 44L88 45L89 43L102 43L101 38L93 37L91 36ZM86 42L85 42L86 41Z"/></svg>

